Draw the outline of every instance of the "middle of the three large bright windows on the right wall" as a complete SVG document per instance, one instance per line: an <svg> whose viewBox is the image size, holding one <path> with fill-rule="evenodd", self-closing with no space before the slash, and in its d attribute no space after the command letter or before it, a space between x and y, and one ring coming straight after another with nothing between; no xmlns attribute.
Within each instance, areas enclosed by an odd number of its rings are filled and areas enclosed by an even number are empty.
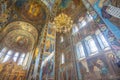
<svg viewBox="0 0 120 80"><path fill-rule="evenodd" d="M87 39L86 41L87 41L87 45L88 45L90 53L92 54L92 53L98 52L97 46L96 46L94 40L92 39L92 37L89 36L86 39Z"/></svg>

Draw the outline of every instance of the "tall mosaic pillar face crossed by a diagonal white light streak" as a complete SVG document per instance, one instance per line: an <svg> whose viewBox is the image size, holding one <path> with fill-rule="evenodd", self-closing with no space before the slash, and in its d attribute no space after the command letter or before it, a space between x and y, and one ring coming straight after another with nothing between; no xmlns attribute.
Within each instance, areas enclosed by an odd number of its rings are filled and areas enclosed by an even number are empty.
<svg viewBox="0 0 120 80"><path fill-rule="evenodd" d="M48 24L48 30L46 34L46 41L44 45L44 53L42 55L42 67L40 71L40 80L53 80L54 79L54 55L52 58L48 57L53 54L55 50L55 31L51 27L52 25ZM46 60L48 59L48 60ZM46 61L45 61L46 60ZM45 62L45 63L44 63Z"/></svg>

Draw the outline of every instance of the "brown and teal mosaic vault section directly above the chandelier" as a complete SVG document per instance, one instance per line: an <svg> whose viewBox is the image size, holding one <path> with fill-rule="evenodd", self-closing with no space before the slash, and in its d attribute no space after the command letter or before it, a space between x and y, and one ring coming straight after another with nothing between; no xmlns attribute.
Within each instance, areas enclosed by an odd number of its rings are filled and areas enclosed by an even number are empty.
<svg viewBox="0 0 120 80"><path fill-rule="evenodd" d="M61 12L67 14L76 22L80 16L84 16L86 9L82 0L61 0L58 14Z"/></svg>

